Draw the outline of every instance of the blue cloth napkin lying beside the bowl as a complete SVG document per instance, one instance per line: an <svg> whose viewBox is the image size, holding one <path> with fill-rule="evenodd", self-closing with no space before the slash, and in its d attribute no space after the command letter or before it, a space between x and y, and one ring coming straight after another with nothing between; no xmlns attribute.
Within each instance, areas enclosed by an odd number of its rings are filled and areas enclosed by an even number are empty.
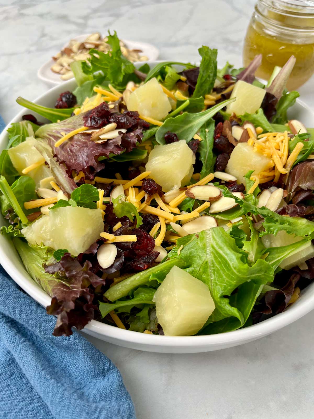
<svg viewBox="0 0 314 419"><path fill-rule="evenodd" d="M0 265L0 417L135 419L116 366L77 331L52 336L55 321Z"/></svg>

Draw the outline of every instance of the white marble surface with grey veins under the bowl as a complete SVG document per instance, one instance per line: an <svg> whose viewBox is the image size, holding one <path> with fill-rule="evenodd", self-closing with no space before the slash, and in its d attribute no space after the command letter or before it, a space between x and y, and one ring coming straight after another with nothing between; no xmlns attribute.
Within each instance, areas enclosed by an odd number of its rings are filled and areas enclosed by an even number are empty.
<svg viewBox="0 0 314 419"><path fill-rule="evenodd" d="M254 0L0 0L0 114L15 98L48 86L37 69L72 36L116 29L155 44L161 59L198 59L201 44L242 64L242 41ZM310 106L314 81L300 89ZM138 419L310 419L314 394L314 312L240 347L189 355L153 354L90 339L120 369ZM91 414L92 417L92 414Z"/></svg>

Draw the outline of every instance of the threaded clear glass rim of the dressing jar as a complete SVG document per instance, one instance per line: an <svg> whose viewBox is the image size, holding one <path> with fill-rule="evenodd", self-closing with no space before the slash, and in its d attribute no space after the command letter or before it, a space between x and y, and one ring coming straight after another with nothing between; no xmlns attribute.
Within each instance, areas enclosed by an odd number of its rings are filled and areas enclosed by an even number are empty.
<svg viewBox="0 0 314 419"><path fill-rule="evenodd" d="M295 18L294 23L286 25L282 21L272 18L267 13L271 11L277 15ZM313 0L258 0L255 4L255 12L268 23L269 26L280 27L283 31L299 32L313 35L314 31L314 1ZM312 26L303 26L302 19L313 19Z"/></svg>

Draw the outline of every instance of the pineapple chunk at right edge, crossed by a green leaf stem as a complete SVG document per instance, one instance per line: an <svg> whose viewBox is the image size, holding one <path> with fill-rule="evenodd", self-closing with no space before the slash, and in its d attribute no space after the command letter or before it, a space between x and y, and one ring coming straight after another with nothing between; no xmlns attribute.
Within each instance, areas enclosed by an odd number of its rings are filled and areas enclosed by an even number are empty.
<svg viewBox="0 0 314 419"><path fill-rule="evenodd" d="M285 231L278 231L277 235L267 234L262 237L263 245L268 247L279 247L287 246L288 244L296 243L302 240L303 237L294 236L292 234L287 234ZM294 266L300 265L301 263L307 261L314 257L314 246L311 241L308 242L306 248L303 248L299 252L294 253L291 256L288 256L284 259L279 265L281 269L291 269Z"/></svg>

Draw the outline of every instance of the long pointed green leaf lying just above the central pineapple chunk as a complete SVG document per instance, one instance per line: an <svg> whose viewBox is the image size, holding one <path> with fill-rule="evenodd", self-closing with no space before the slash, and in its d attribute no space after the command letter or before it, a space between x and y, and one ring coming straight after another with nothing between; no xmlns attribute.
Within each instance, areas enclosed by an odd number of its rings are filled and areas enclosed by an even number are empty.
<svg viewBox="0 0 314 419"><path fill-rule="evenodd" d="M175 116L174 118L166 119L164 124L157 129L156 141L159 144L165 144L164 135L166 132L170 131L177 134L179 140L189 142L193 135L198 132L208 119L234 100L235 98L220 102L207 111L197 114L183 113L182 115Z"/></svg>

